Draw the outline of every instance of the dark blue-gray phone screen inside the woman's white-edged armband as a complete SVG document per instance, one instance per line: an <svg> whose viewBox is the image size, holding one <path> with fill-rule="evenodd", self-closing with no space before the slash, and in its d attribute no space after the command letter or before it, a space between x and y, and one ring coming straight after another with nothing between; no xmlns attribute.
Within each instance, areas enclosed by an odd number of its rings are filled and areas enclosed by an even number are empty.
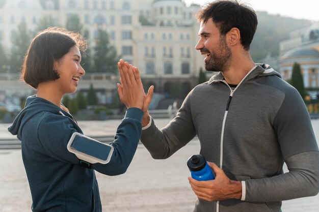
<svg viewBox="0 0 319 212"><path fill-rule="evenodd" d="M71 148L103 161L106 161L108 159L112 149L111 146L107 144L100 143L98 141L94 141L78 135L74 137Z"/></svg>

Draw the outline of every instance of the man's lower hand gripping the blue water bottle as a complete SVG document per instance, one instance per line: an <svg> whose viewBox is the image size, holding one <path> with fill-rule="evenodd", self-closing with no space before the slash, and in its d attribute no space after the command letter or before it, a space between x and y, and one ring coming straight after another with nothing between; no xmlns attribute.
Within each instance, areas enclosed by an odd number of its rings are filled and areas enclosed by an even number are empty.
<svg viewBox="0 0 319 212"><path fill-rule="evenodd" d="M215 163L209 163L216 177L213 180L198 181L189 177L191 187L199 199L207 201L221 201L225 199L241 199L242 183L241 181L230 180L225 172Z"/></svg>

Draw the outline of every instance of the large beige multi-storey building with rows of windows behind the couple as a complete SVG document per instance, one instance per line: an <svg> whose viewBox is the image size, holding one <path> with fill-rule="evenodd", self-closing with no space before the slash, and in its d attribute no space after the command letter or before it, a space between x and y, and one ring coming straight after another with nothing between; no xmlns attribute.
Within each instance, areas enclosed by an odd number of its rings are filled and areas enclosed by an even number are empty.
<svg viewBox="0 0 319 212"><path fill-rule="evenodd" d="M165 93L174 83L188 93L196 85L203 57L195 50L199 24L194 18L199 5L187 7L182 0L2 0L0 41L11 48L11 37L24 21L35 31L43 16L65 26L77 14L89 32L89 43L99 28L122 58L139 67L144 84Z"/></svg>

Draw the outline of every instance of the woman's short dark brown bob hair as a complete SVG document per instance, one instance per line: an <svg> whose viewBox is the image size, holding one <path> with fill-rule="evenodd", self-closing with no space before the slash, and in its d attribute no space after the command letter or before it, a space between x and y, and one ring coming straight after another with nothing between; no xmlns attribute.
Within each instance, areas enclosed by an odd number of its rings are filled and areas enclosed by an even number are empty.
<svg viewBox="0 0 319 212"><path fill-rule="evenodd" d="M32 40L26 52L21 80L37 88L39 83L59 79L54 63L61 61L73 46L87 49L87 41L78 33L64 28L49 27Z"/></svg>

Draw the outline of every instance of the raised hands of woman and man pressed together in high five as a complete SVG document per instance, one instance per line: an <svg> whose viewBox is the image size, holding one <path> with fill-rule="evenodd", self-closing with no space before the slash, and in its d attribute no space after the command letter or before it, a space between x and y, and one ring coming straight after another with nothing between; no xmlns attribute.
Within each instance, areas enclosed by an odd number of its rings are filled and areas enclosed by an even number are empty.
<svg viewBox="0 0 319 212"><path fill-rule="evenodd" d="M151 103L154 86L149 87L146 95L139 69L124 62L123 59L120 59L117 65L120 71L121 82L117 83L117 92L121 102L123 102L127 108L137 107L145 113Z"/></svg>

